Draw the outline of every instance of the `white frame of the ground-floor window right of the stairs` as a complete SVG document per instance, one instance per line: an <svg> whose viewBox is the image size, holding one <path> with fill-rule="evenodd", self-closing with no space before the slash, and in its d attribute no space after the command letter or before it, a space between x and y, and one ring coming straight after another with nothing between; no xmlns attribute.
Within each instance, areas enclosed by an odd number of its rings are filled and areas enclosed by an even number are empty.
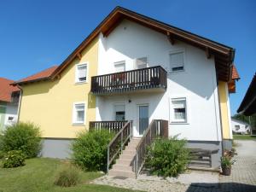
<svg viewBox="0 0 256 192"><path fill-rule="evenodd" d="M173 105L172 101L185 101L185 119L174 119L174 110L173 110ZM188 124L189 121L189 116L188 116L188 98L187 97L172 97L170 98L170 122L171 124Z"/></svg>

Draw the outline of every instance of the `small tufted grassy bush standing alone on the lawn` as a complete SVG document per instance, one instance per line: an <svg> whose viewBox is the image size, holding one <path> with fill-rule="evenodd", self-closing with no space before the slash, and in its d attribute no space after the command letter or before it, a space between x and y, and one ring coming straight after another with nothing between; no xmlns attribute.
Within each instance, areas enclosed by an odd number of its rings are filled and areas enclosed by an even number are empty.
<svg viewBox="0 0 256 192"><path fill-rule="evenodd" d="M75 186L80 181L79 170L74 166L67 166L55 178L55 185L61 187Z"/></svg>

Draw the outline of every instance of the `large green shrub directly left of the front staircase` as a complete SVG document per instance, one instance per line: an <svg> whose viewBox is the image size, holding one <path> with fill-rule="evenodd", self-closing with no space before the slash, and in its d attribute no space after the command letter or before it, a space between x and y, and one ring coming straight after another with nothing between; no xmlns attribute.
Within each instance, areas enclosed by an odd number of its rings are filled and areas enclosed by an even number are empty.
<svg viewBox="0 0 256 192"><path fill-rule="evenodd" d="M73 142L73 160L87 171L106 171L108 143L113 138L109 131L82 131Z"/></svg>

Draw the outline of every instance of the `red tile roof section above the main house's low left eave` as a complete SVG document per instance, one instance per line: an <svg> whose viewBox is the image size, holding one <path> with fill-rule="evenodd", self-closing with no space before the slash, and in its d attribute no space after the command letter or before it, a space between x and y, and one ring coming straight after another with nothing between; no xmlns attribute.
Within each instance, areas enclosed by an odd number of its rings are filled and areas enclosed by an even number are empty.
<svg viewBox="0 0 256 192"><path fill-rule="evenodd" d="M39 73L35 73L32 76L29 76L25 79L20 79L18 81L15 81L15 84L23 84L23 83L26 83L26 82L33 82L33 81L48 79L50 77L50 75L55 72L55 69L57 67L58 66L49 67L49 68L45 69L44 71L41 71Z"/></svg>

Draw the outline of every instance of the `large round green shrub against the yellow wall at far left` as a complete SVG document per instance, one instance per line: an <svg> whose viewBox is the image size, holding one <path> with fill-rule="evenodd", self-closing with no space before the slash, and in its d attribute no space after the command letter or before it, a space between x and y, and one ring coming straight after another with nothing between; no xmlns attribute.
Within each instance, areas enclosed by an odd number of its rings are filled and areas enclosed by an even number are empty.
<svg viewBox="0 0 256 192"><path fill-rule="evenodd" d="M32 123L18 123L3 132L3 150L20 150L26 158L36 157L41 150L41 133Z"/></svg>

